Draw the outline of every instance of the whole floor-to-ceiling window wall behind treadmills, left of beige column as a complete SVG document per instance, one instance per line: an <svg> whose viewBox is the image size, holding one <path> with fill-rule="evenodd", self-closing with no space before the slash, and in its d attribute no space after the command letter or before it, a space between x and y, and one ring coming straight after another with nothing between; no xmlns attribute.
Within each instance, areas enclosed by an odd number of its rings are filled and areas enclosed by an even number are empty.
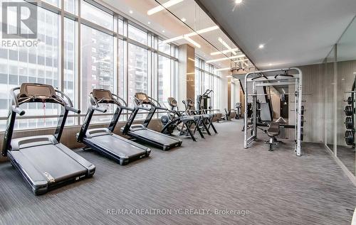
<svg viewBox="0 0 356 225"><path fill-rule="evenodd" d="M9 90L23 82L51 84L66 92L82 111L79 116L70 114L70 125L83 120L94 88L110 89L130 106L135 92L159 101L175 97L177 46L162 43L155 33L98 3L61 2L38 0L37 48L0 48L0 131L7 119ZM56 105L23 107L26 115L19 117L16 129L56 126ZM107 122L112 108L108 112L95 115L93 122Z"/></svg>

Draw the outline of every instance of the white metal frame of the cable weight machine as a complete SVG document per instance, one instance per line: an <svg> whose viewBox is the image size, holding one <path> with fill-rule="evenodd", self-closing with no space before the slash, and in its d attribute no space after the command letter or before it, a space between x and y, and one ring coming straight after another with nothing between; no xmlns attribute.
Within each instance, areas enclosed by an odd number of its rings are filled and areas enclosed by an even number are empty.
<svg viewBox="0 0 356 225"><path fill-rule="evenodd" d="M297 74L289 75L288 71L296 71ZM282 74L278 74L278 72L283 72ZM271 73L273 73L271 75ZM297 67L276 69L276 70L260 70L255 72L248 72L245 75L245 106L244 106L244 148L248 148L253 141L257 138L257 92L256 87L267 87L267 86L280 86L280 85L291 85L295 86L294 93L285 93L285 94L294 94L295 96L295 125L290 125L291 128L294 128L294 140L295 140L295 153L296 155L301 155L300 143L302 138L302 123L303 116L302 113L304 109L302 107L302 71ZM250 89L248 89L248 84L252 83L252 93ZM252 116L251 116L251 124L248 124L248 97L252 97ZM302 110L303 109L303 110ZM303 111L303 112L302 112ZM251 136L248 137L248 130L251 131Z"/></svg>

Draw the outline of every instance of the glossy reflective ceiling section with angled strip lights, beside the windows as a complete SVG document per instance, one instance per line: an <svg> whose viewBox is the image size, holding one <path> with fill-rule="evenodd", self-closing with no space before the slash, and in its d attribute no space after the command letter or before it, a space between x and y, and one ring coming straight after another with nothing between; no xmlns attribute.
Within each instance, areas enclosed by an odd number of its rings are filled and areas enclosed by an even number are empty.
<svg viewBox="0 0 356 225"><path fill-rule="evenodd" d="M155 13L152 16L147 15L149 9L159 6L159 3L163 4L167 0L101 0L103 4L110 9L115 9L117 13L130 18L132 21L140 24L151 31L155 31L164 38L174 38L179 35L192 33L203 28L209 28L216 26L214 21L211 20L206 13L200 9L198 4L194 0L184 0L179 4L169 7L169 11L163 10L159 13ZM133 13L130 13L132 10ZM177 17L176 17L177 16ZM184 24L180 21L180 18L186 18L187 21ZM150 21L150 24L148 22ZM191 28L189 28L189 27ZM164 33L162 32L164 31ZM219 42L218 38L221 37L231 48L236 48L236 45L229 40L229 38L220 29L210 31L208 33L193 36L192 39L201 45L201 48L195 48L196 54L204 58L204 60L212 60L216 58L224 57L224 55L211 56L211 52L218 50L226 50L226 48ZM204 40L205 38L205 40ZM207 41L206 41L207 40ZM174 43L182 45L188 43L187 40L177 40ZM217 49L218 50L217 50ZM241 53L238 53L239 55ZM229 54L226 54L229 55ZM230 67L230 61L225 60L222 62L216 62L218 67Z"/></svg>

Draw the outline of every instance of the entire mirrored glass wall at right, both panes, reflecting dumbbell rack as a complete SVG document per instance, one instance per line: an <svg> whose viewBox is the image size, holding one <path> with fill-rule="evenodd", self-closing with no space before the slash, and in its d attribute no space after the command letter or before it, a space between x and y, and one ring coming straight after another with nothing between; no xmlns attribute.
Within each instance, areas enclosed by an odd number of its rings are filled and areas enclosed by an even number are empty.
<svg viewBox="0 0 356 225"><path fill-rule="evenodd" d="M355 175L356 19L325 59L326 145ZM329 89L330 88L330 89ZM332 91L333 89L333 91Z"/></svg>

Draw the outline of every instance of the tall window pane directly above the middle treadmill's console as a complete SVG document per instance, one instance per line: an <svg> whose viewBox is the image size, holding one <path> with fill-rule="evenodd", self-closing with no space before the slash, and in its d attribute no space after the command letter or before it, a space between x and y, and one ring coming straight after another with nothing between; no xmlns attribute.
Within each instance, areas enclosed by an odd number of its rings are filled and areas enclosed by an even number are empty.
<svg viewBox="0 0 356 225"><path fill-rule="evenodd" d="M81 110L87 111L88 94L93 88L114 92L114 38L93 28L81 26ZM95 37L93 37L95 35ZM95 38L97 43L91 40ZM93 52L95 48L97 51ZM93 60L95 57L95 61ZM95 79L93 79L95 78Z"/></svg>

